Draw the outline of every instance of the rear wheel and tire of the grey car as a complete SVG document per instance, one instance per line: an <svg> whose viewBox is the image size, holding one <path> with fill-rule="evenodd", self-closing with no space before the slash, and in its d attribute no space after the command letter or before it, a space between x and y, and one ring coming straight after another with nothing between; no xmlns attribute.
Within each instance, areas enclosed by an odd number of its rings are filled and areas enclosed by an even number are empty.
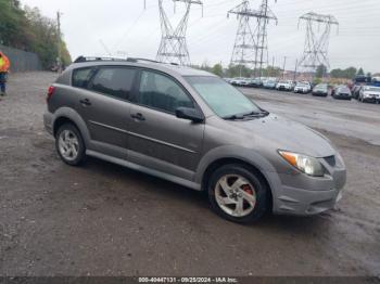
<svg viewBox="0 0 380 284"><path fill-rule="evenodd" d="M86 158L86 145L80 131L73 124L64 124L56 131L55 149L69 166L79 166Z"/></svg>

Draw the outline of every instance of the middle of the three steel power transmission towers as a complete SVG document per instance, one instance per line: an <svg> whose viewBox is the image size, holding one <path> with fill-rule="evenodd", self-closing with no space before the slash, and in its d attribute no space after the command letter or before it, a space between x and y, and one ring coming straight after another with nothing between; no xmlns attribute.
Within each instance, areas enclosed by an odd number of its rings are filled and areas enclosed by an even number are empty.
<svg viewBox="0 0 380 284"><path fill-rule="evenodd" d="M268 7L268 0L263 0L258 10L250 8L250 1L243 0L241 4L228 11L228 16L236 14L239 18L239 27L235 40L231 64L254 68L259 76L263 75L264 65L268 65L267 26L270 20L277 17ZM253 29L251 18L256 18Z"/></svg>

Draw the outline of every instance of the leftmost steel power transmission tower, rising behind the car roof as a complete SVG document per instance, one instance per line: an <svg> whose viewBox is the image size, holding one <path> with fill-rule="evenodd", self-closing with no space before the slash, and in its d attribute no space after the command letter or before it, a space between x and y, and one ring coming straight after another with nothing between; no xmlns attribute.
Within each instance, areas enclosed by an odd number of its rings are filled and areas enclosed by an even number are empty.
<svg viewBox="0 0 380 284"><path fill-rule="evenodd" d="M177 63L179 65L190 65L190 55L186 42L190 8L192 4L203 5L203 3L200 0L173 1L174 3L183 2L186 4L186 11L178 26L174 29L163 7L163 0L159 0L162 38L156 60L160 62Z"/></svg>

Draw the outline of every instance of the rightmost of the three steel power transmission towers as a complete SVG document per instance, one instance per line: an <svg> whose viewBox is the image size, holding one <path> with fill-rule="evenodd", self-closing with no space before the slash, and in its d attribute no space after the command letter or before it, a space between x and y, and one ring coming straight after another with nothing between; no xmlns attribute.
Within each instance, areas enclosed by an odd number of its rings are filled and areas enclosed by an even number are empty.
<svg viewBox="0 0 380 284"><path fill-rule="evenodd" d="M330 67L328 59L330 31L331 26L339 26L339 23L332 15L313 12L302 15L299 20L299 26L301 22L306 22L306 40L299 67L303 72L313 74L314 77L318 66L324 65L327 69Z"/></svg>

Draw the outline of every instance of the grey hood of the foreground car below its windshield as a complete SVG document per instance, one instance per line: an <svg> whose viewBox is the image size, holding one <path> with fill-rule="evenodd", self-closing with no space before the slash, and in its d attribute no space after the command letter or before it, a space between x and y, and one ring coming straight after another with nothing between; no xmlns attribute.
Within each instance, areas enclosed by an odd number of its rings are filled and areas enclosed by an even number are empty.
<svg viewBox="0 0 380 284"><path fill-rule="evenodd" d="M237 121L235 127L253 135L254 143L275 150L291 151L313 157L329 157L335 150L322 134L290 119L269 115L263 119Z"/></svg>

